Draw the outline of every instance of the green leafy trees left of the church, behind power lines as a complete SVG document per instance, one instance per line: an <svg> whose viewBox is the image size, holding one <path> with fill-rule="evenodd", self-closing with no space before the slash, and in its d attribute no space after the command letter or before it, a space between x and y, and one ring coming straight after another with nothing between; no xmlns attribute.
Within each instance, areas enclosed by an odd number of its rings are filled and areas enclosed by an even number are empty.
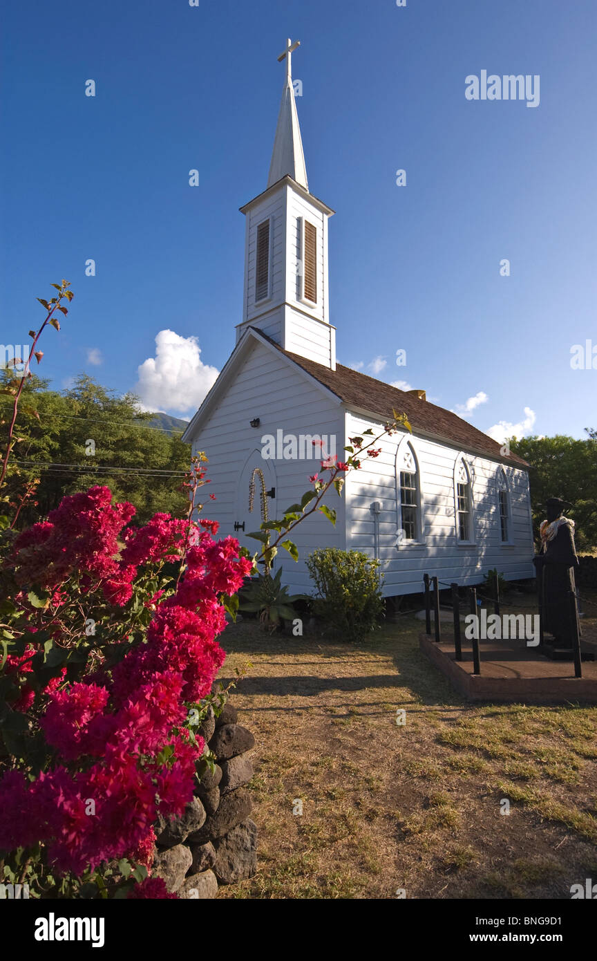
<svg viewBox="0 0 597 961"><path fill-rule="evenodd" d="M8 382L12 375L4 377ZM0 398L3 433L11 405L8 396ZM15 503L26 481L38 478L39 484L36 505L23 507L18 527L45 516L65 494L97 483L136 507L136 523L156 511L183 513L186 495L180 485L190 447L178 433L148 427L150 418L133 394L119 397L86 375L61 392L50 390L48 382L35 375L28 379L15 423L6 498ZM1 441L4 446L5 436Z"/></svg>

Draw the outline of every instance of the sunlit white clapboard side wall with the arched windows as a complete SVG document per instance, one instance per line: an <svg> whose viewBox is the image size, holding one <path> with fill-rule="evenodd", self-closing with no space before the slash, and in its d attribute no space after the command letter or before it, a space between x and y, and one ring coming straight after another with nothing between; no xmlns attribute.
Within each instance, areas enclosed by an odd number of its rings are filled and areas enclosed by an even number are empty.
<svg viewBox="0 0 597 961"><path fill-rule="evenodd" d="M346 414L346 438L358 436L368 427L375 434L383 431L381 424L349 412ZM395 455L398 443L404 442L403 438L411 441L418 461L422 530L420 544L407 542L396 549L399 514ZM346 478L346 546L378 556L382 562L386 595L420 591L425 572L446 582L463 584L478 582L492 567L497 567L506 579L534 576L529 485L525 471L504 466L510 495L511 543L502 544L497 493L500 464L490 458L469 456L456 448L405 433L384 438L375 446L382 448L381 454L369 459L359 471L351 472ZM454 468L463 453L474 472L473 544L462 544L456 533ZM373 502L380 504L377 522L371 511ZM375 536L376 523L378 537Z"/></svg>

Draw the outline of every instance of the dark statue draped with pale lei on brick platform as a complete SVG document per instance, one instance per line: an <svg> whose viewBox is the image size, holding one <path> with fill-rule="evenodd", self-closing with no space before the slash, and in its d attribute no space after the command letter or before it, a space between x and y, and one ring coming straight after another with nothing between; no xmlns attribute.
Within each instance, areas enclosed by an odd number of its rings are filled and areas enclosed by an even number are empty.
<svg viewBox="0 0 597 961"><path fill-rule="evenodd" d="M581 627L574 579L574 569L579 566L574 521L563 513L564 508L570 506L560 497L546 500L546 520L539 528L541 549L534 564L543 632L553 634L561 648L572 650L575 635L577 632L581 635Z"/></svg>

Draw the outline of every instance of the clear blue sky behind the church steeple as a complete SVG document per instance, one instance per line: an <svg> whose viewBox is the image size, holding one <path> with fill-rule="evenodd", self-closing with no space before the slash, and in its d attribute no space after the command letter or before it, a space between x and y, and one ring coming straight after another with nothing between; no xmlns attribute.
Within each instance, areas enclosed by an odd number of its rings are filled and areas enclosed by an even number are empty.
<svg viewBox="0 0 597 961"><path fill-rule="evenodd" d="M309 186L337 211L339 360L484 431L597 427L597 350L570 366L597 348L594 0L33 0L3 21L0 340L68 279L54 386L134 389L169 330L146 402L192 416L241 318L238 208L266 185L290 36ZM467 100L484 69L538 74L537 108Z"/></svg>

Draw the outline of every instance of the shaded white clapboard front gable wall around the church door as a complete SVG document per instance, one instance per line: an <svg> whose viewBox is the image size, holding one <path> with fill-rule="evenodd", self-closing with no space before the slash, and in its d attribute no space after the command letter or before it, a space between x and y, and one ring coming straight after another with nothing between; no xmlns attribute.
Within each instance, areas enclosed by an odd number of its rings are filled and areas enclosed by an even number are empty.
<svg viewBox="0 0 597 961"><path fill-rule="evenodd" d="M259 417L255 430L250 420ZM209 458L206 494L215 494L215 501L206 501L203 513L220 523L219 536L239 536L233 530L236 520L237 493L240 473L255 448L261 448L266 434L325 434L336 436L339 456L344 447L345 416L340 405L328 400L316 386L305 382L304 374L289 365L283 357L268 347L255 342L236 373L233 382L215 405L199 433L193 438L193 453L203 451ZM320 459L275 460L276 513L296 503L311 486L309 475L318 472ZM255 502L258 498L255 496ZM292 592L310 593L305 556L316 546L329 544L345 547L346 521L344 500L335 491L326 496L326 503L338 511L335 527L319 512L303 521L293 540L299 548L299 563L280 550L275 566L281 565L284 583ZM255 527L258 526L258 521ZM251 530L251 529L250 529ZM254 529L253 529L254 530ZM243 539L251 550L258 549L257 541Z"/></svg>

